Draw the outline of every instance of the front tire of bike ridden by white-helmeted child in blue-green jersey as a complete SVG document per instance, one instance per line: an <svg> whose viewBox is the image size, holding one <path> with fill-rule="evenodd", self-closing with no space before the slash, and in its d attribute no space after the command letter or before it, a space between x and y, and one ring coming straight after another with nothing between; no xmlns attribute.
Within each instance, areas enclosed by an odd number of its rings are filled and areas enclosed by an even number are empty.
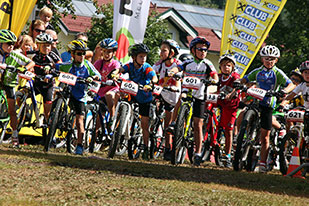
<svg viewBox="0 0 309 206"><path fill-rule="evenodd" d="M235 151L235 155L234 155L234 161L233 161L233 168L235 171L239 171L242 170L243 168L243 160L247 159L247 155L250 149L250 145L245 144L244 145L244 135L247 131L247 128L253 127L253 120L255 118L255 112L253 110L249 110L246 112L244 119L241 123L240 126L240 131L239 134L237 136L237 146L236 146L236 151ZM251 128L250 131L252 131ZM249 137L249 132L247 133L247 138Z"/></svg>

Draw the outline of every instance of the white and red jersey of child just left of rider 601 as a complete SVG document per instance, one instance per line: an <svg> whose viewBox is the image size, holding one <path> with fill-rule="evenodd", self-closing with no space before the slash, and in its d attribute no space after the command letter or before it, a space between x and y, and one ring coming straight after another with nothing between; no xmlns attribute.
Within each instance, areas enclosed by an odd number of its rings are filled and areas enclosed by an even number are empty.
<svg viewBox="0 0 309 206"><path fill-rule="evenodd" d="M153 65L153 69L155 70L156 74L160 77L159 79L159 85L161 86L175 86L176 81L175 79L168 77L168 72L178 65L181 64L181 61L175 59L175 61L171 65L166 65L165 62L161 63L161 61L157 62L155 65ZM179 91L181 88L179 88ZM172 92L172 91L166 91L163 90L161 92L162 98L169 104L175 106L179 96L180 92Z"/></svg>

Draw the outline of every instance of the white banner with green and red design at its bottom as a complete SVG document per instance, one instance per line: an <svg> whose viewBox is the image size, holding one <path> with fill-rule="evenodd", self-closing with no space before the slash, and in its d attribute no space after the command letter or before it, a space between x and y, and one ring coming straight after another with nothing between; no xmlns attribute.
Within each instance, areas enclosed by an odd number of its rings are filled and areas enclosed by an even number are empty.
<svg viewBox="0 0 309 206"><path fill-rule="evenodd" d="M129 46L143 42L149 6L150 0L114 1L113 38L119 44L116 57L122 63L130 59Z"/></svg>

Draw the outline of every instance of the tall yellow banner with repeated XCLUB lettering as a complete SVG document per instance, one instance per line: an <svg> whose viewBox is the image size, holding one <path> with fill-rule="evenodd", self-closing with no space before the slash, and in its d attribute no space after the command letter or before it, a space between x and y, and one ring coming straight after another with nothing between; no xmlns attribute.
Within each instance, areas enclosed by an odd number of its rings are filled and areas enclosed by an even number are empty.
<svg viewBox="0 0 309 206"><path fill-rule="evenodd" d="M244 76L286 0L226 1L221 51L234 54L236 71Z"/></svg>

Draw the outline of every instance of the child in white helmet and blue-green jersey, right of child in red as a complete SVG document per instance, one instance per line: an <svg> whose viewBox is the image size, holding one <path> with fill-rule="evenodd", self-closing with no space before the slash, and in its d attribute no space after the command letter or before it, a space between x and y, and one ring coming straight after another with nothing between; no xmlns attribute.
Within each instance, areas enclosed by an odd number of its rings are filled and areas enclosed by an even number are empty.
<svg viewBox="0 0 309 206"><path fill-rule="evenodd" d="M260 56L263 65L254 69L240 83L248 83L256 81L257 87L264 90L277 90L279 86L285 87L281 92L289 93L295 85L285 75L285 73L276 67L276 63L280 57L280 51L272 45L264 46L260 51ZM275 98L265 97L259 103L260 122L261 122L261 160L259 172L267 172L266 160L269 151L269 136L272 127L272 112L275 106Z"/></svg>

